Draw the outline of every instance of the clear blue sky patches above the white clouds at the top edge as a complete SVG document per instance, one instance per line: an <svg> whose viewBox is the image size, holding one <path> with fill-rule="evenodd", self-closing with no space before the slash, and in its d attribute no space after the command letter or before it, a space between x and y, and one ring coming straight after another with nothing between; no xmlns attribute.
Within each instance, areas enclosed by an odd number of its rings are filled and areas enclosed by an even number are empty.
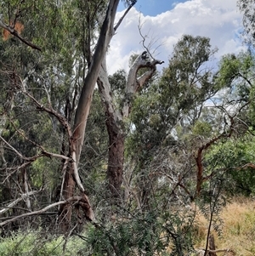
<svg viewBox="0 0 255 256"><path fill-rule="evenodd" d="M224 1L224 0L223 0ZM157 14L161 14L166 12L173 7L177 3L184 3L185 0L138 0L135 4L136 9L138 9L144 15L156 16ZM119 10L125 9L123 2L119 6Z"/></svg>

